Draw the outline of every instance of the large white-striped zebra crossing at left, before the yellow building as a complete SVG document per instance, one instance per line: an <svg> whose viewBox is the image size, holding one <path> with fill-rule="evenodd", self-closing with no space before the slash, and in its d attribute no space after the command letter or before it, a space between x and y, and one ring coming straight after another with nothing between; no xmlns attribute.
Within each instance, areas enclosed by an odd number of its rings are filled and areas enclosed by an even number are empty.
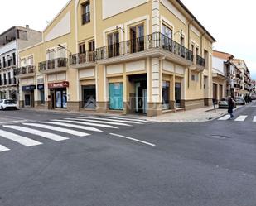
<svg viewBox="0 0 256 206"><path fill-rule="evenodd" d="M123 117L68 117L50 121L6 124L0 127L0 153L11 150L1 145L2 139L31 147L44 144L44 142L34 140L35 137L58 142L69 140L72 137L89 137L94 133L104 132L105 129L117 131L121 127L134 127L148 123L152 122Z"/></svg>

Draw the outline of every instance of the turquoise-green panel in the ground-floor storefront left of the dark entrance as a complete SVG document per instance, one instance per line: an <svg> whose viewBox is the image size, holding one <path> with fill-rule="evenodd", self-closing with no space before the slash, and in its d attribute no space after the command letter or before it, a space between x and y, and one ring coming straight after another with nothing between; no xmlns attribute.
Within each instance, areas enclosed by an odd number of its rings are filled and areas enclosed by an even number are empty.
<svg viewBox="0 0 256 206"><path fill-rule="evenodd" d="M123 83L109 84L109 108L123 110Z"/></svg>

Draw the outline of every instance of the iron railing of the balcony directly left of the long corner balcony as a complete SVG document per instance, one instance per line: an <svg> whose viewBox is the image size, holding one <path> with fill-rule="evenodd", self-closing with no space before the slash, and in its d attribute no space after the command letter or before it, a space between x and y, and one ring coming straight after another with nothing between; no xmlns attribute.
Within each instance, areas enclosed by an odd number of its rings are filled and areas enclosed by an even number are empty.
<svg viewBox="0 0 256 206"><path fill-rule="evenodd" d="M94 63L96 60L95 51L86 51L83 54L70 55L70 65L81 65L85 63Z"/></svg>

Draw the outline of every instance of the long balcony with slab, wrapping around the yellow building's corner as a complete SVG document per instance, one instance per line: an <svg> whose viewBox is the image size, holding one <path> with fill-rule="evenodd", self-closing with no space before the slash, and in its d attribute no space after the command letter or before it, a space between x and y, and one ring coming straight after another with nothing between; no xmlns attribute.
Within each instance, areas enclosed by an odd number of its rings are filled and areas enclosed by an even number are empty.
<svg viewBox="0 0 256 206"><path fill-rule="evenodd" d="M96 54L96 60L103 65L123 60L138 60L148 56L161 57L186 66L191 66L193 62L191 50L159 32L98 48Z"/></svg>

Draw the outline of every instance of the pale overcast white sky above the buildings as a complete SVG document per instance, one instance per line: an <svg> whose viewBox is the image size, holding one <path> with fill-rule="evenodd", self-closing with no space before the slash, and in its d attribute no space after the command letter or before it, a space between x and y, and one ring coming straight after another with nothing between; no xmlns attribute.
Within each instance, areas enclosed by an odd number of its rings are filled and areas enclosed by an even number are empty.
<svg viewBox="0 0 256 206"><path fill-rule="evenodd" d="M117 0L122 1L122 0ZM43 30L68 0L1 0L0 33L13 25ZM214 49L244 59L256 79L255 0L182 0L218 41ZM12 6L12 5L11 5ZM208 7L210 7L208 9Z"/></svg>

